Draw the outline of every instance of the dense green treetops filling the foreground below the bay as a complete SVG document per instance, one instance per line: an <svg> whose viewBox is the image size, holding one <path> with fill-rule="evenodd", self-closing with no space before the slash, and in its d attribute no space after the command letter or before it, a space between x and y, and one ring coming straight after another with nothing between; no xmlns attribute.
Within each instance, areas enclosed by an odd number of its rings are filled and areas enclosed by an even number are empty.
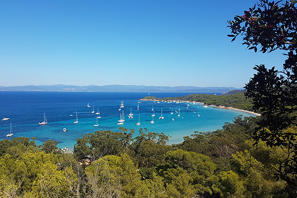
<svg viewBox="0 0 297 198"><path fill-rule="evenodd" d="M135 137L124 128L83 135L73 154L57 149L56 141L3 140L0 197L289 198L294 188L273 177L286 150L254 146L258 119L237 117L172 146L162 133L140 129Z"/></svg>

